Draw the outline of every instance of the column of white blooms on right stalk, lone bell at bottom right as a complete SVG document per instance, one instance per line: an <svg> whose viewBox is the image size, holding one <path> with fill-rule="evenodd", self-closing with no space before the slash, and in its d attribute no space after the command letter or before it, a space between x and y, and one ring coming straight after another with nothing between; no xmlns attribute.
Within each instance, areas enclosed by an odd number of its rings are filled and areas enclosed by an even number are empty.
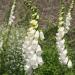
<svg viewBox="0 0 75 75"><path fill-rule="evenodd" d="M72 67L72 62L67 56L67 49L65 47L65 28L59 27L58 33L56 33L56 45L59 53L59 60L62 64L68 65L68 68Z"/></svg>

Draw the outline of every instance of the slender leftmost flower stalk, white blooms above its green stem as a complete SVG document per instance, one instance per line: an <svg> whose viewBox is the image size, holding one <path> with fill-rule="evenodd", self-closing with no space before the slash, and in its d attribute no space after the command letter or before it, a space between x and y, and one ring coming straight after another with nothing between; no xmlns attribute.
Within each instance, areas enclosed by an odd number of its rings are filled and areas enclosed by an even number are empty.
<svg viewBox="0 0 75 75"><path fill-rule="evenodd" d="M7 31L6 31L6 33L5 33L6 38L4 37L3 45L4 45L5 43L7 43L8 38L9 38L10 30L11 30L12 24L13 24L14 19L15 19L15 16L14 16L15 7L16 7L16 0L13 1L13 5L12 5L12 7L11 7L10 16L9 16L9 21L8 21L8 28L7 28ZM4 36L5 36L5 35L4 35Z"/></svg>

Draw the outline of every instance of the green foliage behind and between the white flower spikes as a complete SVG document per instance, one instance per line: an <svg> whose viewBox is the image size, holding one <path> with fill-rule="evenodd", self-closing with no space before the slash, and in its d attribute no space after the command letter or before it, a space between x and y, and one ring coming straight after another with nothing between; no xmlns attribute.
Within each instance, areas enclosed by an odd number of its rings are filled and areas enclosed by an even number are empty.
<svg viewBox="0 0 75 75"><path fill-rule="evenodd" d="M31 4L33 5L33 4ZM3 47L0 48L0 74L1 75L25 75L24 63L22 59L22 43L29 27L31 10L29 6L24 6L25 14L21 15L19 22L12 25L11 28L7 22L0 26L0 42L3 40ZM27 10L27 11L26 11ZM9 13L7 14L9 15ZM23 17L22 17L23 16ZM8 19L8 17L7 17ZM6 19L6 21L8 21ZM43 28L42 28L43 29ZM7 33L9 31L9 34ZM33 70L33 75L75 75L75 39L71 35L75 34L75 28L71 29L66 37L68 55L73 61L73 68L61 65L58 60L55 35L57 24L48 21L48 25L43 29L45 39L40 41L43 50L44 64L38 69Z"/></svg>

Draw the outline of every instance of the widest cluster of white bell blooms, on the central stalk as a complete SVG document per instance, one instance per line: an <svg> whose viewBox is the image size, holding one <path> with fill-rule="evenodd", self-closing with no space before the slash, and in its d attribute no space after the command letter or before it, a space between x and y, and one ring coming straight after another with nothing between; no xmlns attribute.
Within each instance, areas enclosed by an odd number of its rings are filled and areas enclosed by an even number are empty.
<svg viewBox="0 0 75 75"><path fill-rule="evenodd" d="M29 71L31 68L36 69L38 65L43 64L43 60L41 57L41 47L38 43L38 40L44 39L44 34L42 31L38 31L36 28L38 27L38 23L36 20L31 20L30 24L32 27L28 29L27 36L25 37L25 41L23 43L23 57L26 61L25 70Z"/></svg>

